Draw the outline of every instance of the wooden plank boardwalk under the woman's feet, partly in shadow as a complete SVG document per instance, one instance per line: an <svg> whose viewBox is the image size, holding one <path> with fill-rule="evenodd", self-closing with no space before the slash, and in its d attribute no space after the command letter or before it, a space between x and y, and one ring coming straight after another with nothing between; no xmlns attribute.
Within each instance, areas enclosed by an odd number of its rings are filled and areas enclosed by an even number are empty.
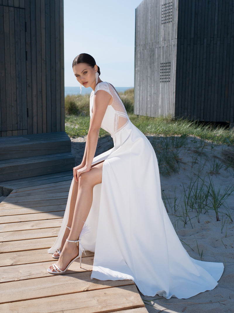
<svg viewBox="0 0 234 313"><path fill-rule="evenodd" d="M133 281L91 280L91 252L81 269L77 261L65 275L47 273L71 179L62 172L0 184L13 189L0 203L0 312L147 313Z"/></svg>

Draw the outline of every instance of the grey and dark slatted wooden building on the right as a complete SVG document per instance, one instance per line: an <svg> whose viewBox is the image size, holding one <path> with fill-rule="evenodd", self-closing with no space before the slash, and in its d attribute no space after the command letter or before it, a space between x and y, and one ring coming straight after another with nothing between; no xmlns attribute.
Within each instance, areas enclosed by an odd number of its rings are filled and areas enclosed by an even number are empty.
<svg viewBox="0 0 234 313"><path fill-rule="evenodd" d="M234 122L234 1L136 8L135 114Z"/></svg>

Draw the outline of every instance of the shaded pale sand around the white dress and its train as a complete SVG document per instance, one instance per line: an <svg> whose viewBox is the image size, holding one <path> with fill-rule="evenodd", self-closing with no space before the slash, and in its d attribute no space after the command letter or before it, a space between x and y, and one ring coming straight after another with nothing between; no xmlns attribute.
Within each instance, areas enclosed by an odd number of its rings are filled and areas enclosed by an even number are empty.
<svg viewBox="0 0 234 313"><path fill-rule="evenodd" d="M148 136L148 139L152 142L159 140L158 137L152 136ZM71 140L72 153L76 164L79 164L82 161L86 137L71 138ZM112 146L113 141L110 136L100 138L96 155ZM189 189L191 190L190 198L192 199L194 198L192 194L196 189L198 192L205 190L205 185L209 185L210 182L216 195L219 190L220 195L225 193L225 189L234 184L234 170L224 161L226 155L233 158L233 147L214 145L208 141L190 137L186 145L179 149L178 172L168 177L161 175L164 203L184 248L194 259L223 262L224 273L214 290L205 291L189 299L167 300L159 296L142 295L146 309L150 313L234 312L234 223L231 221L231 219L234 221L234 193L218 208L220 221L216 221L211 196L209 196L205 208L202 208L201 212L197 210L199 214L195 209L191 210L188 207L186 224L184 222L186 215L183 202L184 190L186 195ZM191 187L191 181L195 182L193 187ZM198 188L196 188L197 182ZM176 202L175 199L177 199ZM194 206L198 207L198 205ZM228 217L227 214L230 216Z"/></svg>

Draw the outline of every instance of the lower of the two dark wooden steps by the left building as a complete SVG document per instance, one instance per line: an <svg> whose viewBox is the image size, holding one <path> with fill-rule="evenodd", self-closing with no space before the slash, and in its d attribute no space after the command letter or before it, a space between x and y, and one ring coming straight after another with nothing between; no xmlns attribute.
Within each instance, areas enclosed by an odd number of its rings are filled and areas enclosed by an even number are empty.
<svg viewBox="0 0 234 313"><path fill-rule="evenodd" d="M71 152L0 161L0 182L70 171L75 165Z"/></svg>

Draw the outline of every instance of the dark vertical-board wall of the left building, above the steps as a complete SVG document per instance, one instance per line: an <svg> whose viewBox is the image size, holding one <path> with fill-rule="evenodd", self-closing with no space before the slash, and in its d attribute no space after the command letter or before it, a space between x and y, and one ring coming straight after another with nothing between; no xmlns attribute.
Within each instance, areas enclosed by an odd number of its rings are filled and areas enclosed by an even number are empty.
<svg viewBox="0 0 234 313"><path fill-rule="evenodd" d="M64 131L63 0L0 0L0 134Z"/></svg>

